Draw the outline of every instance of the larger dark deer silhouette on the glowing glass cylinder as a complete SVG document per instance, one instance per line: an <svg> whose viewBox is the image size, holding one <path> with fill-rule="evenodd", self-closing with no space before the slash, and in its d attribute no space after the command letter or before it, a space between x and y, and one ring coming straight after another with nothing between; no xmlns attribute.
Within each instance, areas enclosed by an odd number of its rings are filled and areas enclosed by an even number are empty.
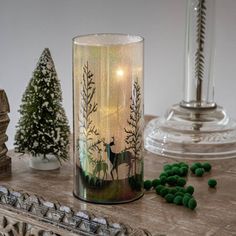
<svg viewBox="0 0 236 236"><path fill-rule="evenodd" d="M119 177L118 174L118 167L121 164L127 164L129 167L129 172L128 172L128 176L130 176L130 171L132 168L132 160L133 160L133 156L131 154L131 152L124 150L120 153L115 153L111 150L111 146L115 145L115 139L114 137L112 137L112 141L108 144L105 144L106 146L106 152L107 152L107 156L110 160L110 162L112 163L112 169L110 171L111 177L114 180L114 176L113 176L113 171L116 171L116 176L117 176L117 180Z"/></svg>

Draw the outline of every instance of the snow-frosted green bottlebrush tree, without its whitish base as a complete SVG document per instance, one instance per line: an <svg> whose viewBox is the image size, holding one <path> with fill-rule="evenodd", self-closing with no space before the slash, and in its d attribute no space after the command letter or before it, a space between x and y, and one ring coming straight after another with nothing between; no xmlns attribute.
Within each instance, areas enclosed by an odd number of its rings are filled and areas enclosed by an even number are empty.
<svg viewBox="0 0 236 236"><path fill-rule="evenodd" d="M50 51L45 48L23 94L16 126L16 150L33 156L68 159L69 125Z"/></svg>

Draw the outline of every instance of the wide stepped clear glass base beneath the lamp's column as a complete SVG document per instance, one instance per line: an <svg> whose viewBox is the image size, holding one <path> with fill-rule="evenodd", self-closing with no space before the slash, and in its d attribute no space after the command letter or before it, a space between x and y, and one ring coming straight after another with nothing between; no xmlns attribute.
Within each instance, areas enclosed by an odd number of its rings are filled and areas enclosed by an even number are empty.
<svg viewBox="0 0 236 236"><path fill-rule="evenodd" d="M148 123L144 139L148 151L172 158L236 157L236 122L219 106L191 109L173 105L163 118Z"/></svg>

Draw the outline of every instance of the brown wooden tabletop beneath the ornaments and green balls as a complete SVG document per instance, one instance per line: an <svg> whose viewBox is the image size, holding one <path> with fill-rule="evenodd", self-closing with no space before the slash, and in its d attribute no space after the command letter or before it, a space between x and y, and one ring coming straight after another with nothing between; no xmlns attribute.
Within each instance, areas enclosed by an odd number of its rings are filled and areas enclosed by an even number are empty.
<svg viewBox="0 0 236 236"><path fill-rule="evenodd" d="M204 177L189 175L187 185L195 187L198 202L192 211L168 204L153 191L132 203L96 205L73 197L72 163L60 170L37 171L29 168L27 158L12 157L12 176L0 179L0 185L10 186L59 201L76 209L111 217L131 227L147 229L152 235L236 235L236 159L211 161L213 169ZM163 164L174 160L145 153L145 179L159 176ZM191 163L191 162L188 162ZM217 179L216 189L209 189L207 180Z"/></svg>

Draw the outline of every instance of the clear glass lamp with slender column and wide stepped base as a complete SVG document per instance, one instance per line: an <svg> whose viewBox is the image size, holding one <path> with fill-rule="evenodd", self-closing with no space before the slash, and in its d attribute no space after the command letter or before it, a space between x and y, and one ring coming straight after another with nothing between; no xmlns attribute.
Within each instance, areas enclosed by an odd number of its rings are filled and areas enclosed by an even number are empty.
<svg viewBox="0 0 236 236"><path fill-rule="evenodd" d="M214 101L215 0L188 0L184 96L145 129L145 148L181 159L236 157L236 122Z"/></svg>

